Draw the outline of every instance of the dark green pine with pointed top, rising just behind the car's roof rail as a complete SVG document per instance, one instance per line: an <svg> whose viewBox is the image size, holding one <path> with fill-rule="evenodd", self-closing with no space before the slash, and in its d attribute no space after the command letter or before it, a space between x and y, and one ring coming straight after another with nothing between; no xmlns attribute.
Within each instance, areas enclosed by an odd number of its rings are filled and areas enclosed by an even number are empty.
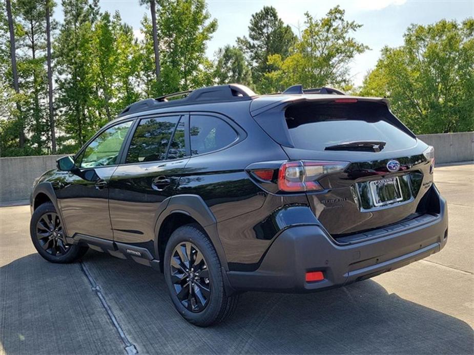
<svg viewBox="0 0 474 355"><path fill-rule="evenodd" d="M283 23L273 6L264 6L252 15L249 37L239 37L237 43L248 59L257 88L262 88L260 81L264 75L275 69L268 57L279 55L285 59L295 41L291 27Z"/></svg>

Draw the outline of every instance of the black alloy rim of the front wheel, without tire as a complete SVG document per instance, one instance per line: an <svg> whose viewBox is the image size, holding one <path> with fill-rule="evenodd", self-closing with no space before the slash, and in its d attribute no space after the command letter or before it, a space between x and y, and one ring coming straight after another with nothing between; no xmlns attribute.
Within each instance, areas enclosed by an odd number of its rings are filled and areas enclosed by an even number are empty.
<svg viewBox="0 0 474 355"><path fill-rule="evenodd" d="M70 250L64 234L61 220L56 212L46 212L36 223L36 237L39 245L53 256L66 255Z"/></svg>

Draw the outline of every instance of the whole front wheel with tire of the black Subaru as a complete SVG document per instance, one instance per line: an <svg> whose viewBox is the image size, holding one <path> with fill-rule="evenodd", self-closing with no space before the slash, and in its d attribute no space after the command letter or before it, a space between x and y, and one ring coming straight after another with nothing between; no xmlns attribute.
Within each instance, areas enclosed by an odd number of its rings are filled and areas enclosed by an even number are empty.
<svg viewBox="0 0 474 355"><path fill-rule="evenodd" d="M40 205L33 212L30 235L38 254L50 262L74 262L89 249L86 246L66 243L59 215L51 202Z"/></svg>

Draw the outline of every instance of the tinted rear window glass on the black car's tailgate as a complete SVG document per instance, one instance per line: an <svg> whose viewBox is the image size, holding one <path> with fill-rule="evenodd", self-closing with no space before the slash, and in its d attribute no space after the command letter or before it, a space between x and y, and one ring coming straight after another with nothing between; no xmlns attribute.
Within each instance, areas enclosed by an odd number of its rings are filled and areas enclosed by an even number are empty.
<svg viewBox="0 0 474 355"><path fill-rule="evenodd" d="M347 142L382 141L384 149L405 149L416 140L390 123L395 117L385 105L358 103L304 103L285 112L296 148L324 150ZM393 121L392 121L393 122Z"/></svg>

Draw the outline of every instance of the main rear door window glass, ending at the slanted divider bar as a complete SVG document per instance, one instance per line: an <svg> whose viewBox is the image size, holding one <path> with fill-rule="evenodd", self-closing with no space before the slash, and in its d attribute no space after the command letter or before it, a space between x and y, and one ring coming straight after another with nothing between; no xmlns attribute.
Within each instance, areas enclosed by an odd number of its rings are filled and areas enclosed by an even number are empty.
<svg viewBox="0 0 474 355"><path fill-rule="evenodd" d="M140 120L130 143L126 163L165 160L178 121L179 116Z"/></svg>

